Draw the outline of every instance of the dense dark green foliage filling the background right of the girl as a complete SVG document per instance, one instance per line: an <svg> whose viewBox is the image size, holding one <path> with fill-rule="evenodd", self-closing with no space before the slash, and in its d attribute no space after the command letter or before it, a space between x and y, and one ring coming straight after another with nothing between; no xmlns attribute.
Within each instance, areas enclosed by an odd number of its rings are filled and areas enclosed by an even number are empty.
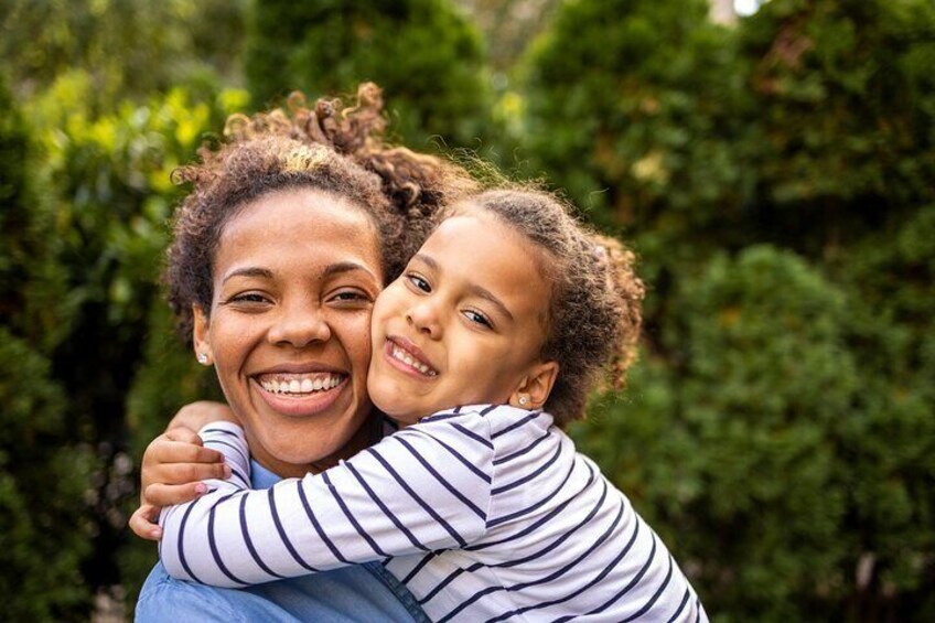
<svg viewBox="0 0 935 623"><path fill-rule="evenodd" d="M927 620L935 6L702 4L568 3L527 58L530 160L653 287L582 448L716 619Z"/></svg>

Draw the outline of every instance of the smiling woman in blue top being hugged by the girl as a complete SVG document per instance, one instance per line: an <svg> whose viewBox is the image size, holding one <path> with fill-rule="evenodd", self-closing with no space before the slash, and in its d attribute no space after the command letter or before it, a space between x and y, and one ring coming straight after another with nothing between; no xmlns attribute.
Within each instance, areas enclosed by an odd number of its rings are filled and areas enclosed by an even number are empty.
<svg viewBox="0 0 935 623"><path fill-rule="evenodd" d="M320 100L310 110L300 99L290 107L291 115L232 118L230 140L179 171L193 191L180 206L165 272L183 334L195 337L198 362L216 367L246 430L257 487L320 471L379 439L365 382L373 300L421 243L436 208L472 189L449 164L384 148L373 85L362 86L353 108ZM273 313L251 313L259 308ZM272 380L290 390L264 389ZM183 419L196 426L202 415L190 409ZM186 434L170 432L153 451L173 439ZM178 582L157 566L137 605L140 621L232 616L422 615L378 565L246 591Z"/></svg>

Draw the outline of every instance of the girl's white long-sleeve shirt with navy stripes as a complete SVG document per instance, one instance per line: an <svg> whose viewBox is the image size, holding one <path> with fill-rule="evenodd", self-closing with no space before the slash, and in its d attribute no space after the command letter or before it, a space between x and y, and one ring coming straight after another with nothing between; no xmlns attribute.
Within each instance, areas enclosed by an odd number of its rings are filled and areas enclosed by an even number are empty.
<svg viewBox="0 0 935 623"><path fill-rule="evenodd" d="M265 491L248 491L239 428L202 434L234 475L163 512L176 578L243 587L379 560L434 621L707 621L658 536L546 412L437 413Z"/></svg>

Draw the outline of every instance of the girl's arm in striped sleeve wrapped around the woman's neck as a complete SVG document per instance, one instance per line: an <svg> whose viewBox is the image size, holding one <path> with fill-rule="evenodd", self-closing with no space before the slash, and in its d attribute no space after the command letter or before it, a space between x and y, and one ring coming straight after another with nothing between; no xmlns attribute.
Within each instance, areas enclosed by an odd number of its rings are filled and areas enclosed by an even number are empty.
<svg viewBox="0 0 935 623"><path fill-rule="evenodd" d="M321 474L267 491L246 490L239 428L212 425L204 434L234 475L163 512L160 556L176 578L243 587L464 547L486 529L493 444L476 415L415 425Z"/></svg>

